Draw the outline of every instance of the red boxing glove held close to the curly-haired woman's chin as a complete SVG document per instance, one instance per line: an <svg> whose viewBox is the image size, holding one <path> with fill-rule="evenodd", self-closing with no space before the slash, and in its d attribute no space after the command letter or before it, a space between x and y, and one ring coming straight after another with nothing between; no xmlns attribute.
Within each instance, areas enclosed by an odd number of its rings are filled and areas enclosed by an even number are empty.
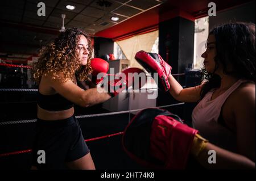
<svg viewBox="0 0 256 181"><path fill-rule="evenodd" d="M109 70L109 63L101 58L92 58L90 66L92 66L92 82L98 84L104 78L103 76L100 79L97 79L98 73L106 74Z"/></svg>

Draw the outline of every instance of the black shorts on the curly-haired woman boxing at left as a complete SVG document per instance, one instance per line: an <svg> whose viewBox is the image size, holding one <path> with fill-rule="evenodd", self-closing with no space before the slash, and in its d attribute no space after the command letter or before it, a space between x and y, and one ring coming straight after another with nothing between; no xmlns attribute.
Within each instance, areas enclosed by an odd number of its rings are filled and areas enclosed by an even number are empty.
<svg viewBox="0 0 256 181"><path fill-rule="evenodd" d="M75 161L89 152L75 116L63 120L36 121L32 165L38 169L65 169L65 162Z"/></svg>

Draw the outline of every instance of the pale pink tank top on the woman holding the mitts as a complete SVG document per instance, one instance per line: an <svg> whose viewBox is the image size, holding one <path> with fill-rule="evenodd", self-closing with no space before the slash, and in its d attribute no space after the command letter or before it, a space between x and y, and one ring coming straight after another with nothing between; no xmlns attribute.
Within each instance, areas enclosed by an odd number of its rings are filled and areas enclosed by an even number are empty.
<svg viewBox="0 0 256 181"><path fill-rule="evenodd" d="M226 99L243 82L247 81L239 79L228 90L213 100L210 99L214 90L210 90L192 112L193 128L199 130L201 136L216 146L234 152L237 152L236 134L218 123L218 118Z"/></svg>

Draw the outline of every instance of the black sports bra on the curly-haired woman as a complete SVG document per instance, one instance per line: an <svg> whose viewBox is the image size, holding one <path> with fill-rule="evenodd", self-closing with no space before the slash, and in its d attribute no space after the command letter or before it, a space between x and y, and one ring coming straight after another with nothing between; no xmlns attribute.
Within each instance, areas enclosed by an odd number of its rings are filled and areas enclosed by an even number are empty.
<svg viewBox="0 0 256 181"><path fill-rule="evenodd" d="M43 95L38 91L38 106L48 111L63 111L72 108L74 104L60 94Z"/></svg>

